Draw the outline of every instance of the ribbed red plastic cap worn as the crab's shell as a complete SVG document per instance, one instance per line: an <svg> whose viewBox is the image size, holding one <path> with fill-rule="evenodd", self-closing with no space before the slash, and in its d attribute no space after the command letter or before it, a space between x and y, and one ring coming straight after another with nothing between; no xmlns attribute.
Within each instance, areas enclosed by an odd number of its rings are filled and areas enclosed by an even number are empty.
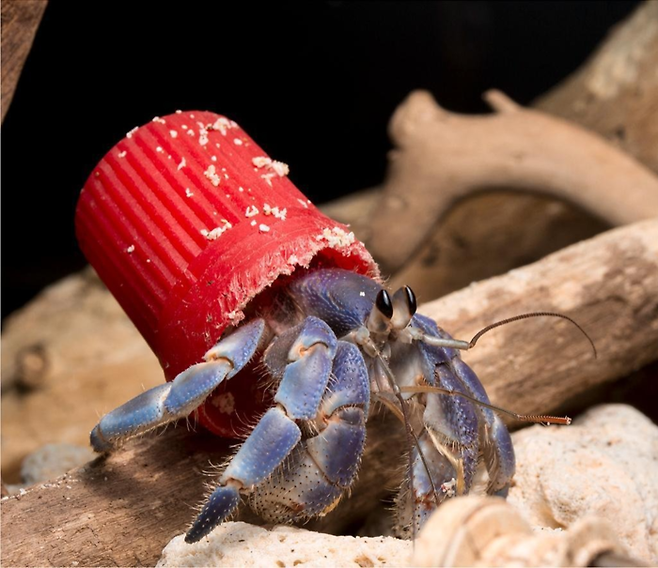
<svg viewBox="0 0 658 568"><path fill-rule="evenodd" d="M363 244L306 199L288 166L210 112L156 117L129 132L89 176L76 232L167 380L297 267L315 259L378 276ZM262 399L254 389L242 376L228 381L199 409L201 422L243 434Z"/></svg>

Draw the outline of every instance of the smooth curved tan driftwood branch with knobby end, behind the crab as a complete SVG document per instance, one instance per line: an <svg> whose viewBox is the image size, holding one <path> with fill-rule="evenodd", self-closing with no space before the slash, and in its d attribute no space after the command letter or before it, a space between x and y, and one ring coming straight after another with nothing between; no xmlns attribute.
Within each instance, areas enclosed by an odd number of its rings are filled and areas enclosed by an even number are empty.
<svg viewBox="0 0 658 568"><path fill-rule="evenodd" d="M456 202L486 190L551 195L612 225L658 215L658 178L596 134L497 91L487 116L448 112L424 91L396 110L396 149L366 243L394 273ZM413 227L413 231L410 231Z"/></svg>

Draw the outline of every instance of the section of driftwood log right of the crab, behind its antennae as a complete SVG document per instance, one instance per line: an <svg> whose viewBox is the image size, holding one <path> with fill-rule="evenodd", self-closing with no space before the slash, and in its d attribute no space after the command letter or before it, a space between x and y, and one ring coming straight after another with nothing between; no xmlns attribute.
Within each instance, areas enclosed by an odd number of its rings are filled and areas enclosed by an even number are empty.
<svg viewBox="0 0 658 568"><path fill-rule="evenodd" d="M485 335L464 360L492 399L544 412L658 359L658 219L614 229L539 262L477 282L423 306L455 337L531 311L575 319L524 320Z"/></svg>

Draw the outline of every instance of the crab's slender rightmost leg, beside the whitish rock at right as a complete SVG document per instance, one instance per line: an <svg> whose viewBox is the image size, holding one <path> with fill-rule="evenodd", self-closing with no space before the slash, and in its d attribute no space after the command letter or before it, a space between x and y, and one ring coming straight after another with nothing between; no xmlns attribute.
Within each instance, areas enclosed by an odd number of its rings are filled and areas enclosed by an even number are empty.
<svg viewBox="0 0 658 568"><path fill-rule="evenodd" d="M471 396L490 404L482 383L466 363L455 358L453 359L453 368L456 376ZM482 449L489 474L487 492L500 497L507 497L516 467L512 438L500 416L493 410L479 406L478 412L484 417L485 425L482 434Z"/></svg>

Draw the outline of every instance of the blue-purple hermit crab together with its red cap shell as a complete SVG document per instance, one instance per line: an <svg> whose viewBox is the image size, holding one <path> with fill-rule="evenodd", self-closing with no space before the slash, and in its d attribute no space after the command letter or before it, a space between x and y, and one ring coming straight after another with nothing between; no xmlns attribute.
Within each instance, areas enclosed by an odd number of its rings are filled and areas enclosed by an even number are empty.
<svg viewBox="0 0 658 568"><path fill-rule="evenodd" d="M505 496L514 451L459 355L474 341L417 314L410 288L389 293L363 245L287 174L208 112L156 117L94 169L78 203L81 248L170 382L105 415L93 448L193 414L244 438L187 542L243 498L272 522L331 511L358 474L374 402L410 442L403 532L467 493L479 468Z"/></svg>

